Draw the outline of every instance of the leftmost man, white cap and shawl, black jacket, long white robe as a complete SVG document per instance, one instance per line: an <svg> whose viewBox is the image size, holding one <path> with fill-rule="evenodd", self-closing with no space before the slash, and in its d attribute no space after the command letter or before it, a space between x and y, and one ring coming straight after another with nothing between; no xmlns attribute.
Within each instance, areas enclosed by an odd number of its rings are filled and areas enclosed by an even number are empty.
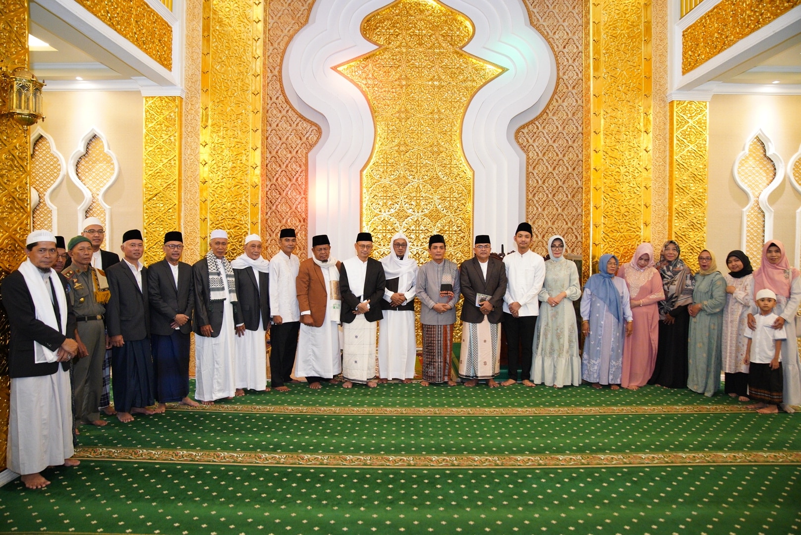
<svg viewBox="0 0 801 535"><path fill-rule="evenodd" d="M50 484L41 474L49 465L78 465L70 459L69 374L78 343L68 336L75 332L75 316L66 299L66 280L51 269L58 255L55 236L33 231L26 249L28 259L2 280L0 289L11 330L6 465L22 474L28 489L41 489Z"/></svg>

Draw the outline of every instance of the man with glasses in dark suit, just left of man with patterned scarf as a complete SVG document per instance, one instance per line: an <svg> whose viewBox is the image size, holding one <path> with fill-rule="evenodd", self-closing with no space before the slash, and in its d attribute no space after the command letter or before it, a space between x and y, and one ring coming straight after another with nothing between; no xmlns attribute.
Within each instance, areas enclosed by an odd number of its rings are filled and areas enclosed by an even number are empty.
<svg viewBox="0 0 801 535"><path fill-rule="evenodd" d="M189 397L189 345L195 283L192 267L181 262L183 235L164 235L164 259L147 268L147 297L150 300L151 352L155 368L155 412L167 410L167 403L196 407Z"/></svg>

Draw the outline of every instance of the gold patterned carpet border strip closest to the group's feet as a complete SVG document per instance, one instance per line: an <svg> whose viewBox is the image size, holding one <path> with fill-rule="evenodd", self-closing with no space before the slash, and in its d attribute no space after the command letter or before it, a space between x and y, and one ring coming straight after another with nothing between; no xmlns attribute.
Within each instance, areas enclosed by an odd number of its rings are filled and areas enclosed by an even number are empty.
<svg viewBox="0 0 801 535"><path fill-rule="evenodd" d="M267 414L340 414L347 416L582 416L603 414L705 414L754 412L745 405L642 405L622 407L301 407L297 405L217 404L167 408L202 412L262 412Z"/></svg>

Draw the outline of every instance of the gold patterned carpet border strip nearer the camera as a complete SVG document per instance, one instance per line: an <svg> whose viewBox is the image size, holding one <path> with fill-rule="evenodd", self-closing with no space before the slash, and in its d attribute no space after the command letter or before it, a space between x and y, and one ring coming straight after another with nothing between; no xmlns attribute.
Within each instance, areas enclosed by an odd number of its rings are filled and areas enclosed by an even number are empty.
<svg viewBox="0 0 801 535"><path fill-rule="evenodd" d="M364 468L556 468L643 465L798 465L801 452L585 453L573 455L345 455L184 449L78 448L78 459Z"/></svg>

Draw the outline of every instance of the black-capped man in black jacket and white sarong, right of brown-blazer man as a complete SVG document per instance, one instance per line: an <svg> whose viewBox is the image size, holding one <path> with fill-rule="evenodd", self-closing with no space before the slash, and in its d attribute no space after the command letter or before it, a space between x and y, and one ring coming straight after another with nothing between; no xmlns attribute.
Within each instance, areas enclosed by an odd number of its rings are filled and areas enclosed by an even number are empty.
<svg viewBox="0 0 801 535"><path fill-rule="evenodd" d="M360 232L356 236L356 256L340 266L343 328L342 375L344 388L353 383L378 385L376 380L376 332L384 298L384 268L370 258L372 235Z"/></svg>

